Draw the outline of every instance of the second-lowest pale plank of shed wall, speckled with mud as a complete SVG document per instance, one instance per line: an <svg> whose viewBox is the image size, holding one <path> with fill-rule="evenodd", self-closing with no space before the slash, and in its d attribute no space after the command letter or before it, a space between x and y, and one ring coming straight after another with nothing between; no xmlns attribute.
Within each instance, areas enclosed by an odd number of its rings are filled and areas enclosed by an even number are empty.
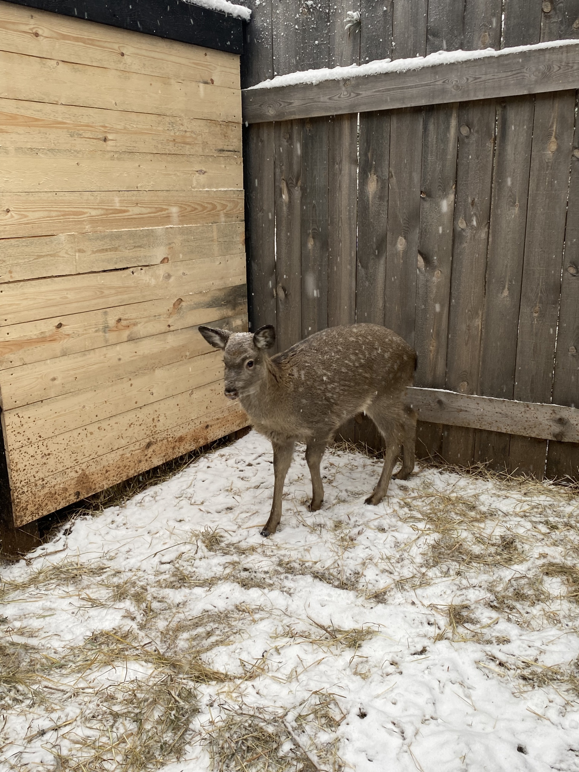
<svg viewBox="0 0 579 772"><path fill-rule="evenodd" d="M124 445L225 408L227 398L223 389L222 380L214 381L18 449L10 447L8 433L12 486L18 488L23 481L29 484L80 467L83 462Z"/></svg>

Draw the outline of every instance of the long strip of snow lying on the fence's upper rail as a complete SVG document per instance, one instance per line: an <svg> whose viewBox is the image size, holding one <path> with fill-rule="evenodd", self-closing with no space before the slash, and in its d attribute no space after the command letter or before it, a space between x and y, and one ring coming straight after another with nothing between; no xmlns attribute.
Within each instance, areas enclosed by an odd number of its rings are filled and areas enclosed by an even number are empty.
<svg viewBox="0 0 579 772"><path fill-rule="evenodd" d="M198 2L222 2L222 0L198 0ZM360 78L382 73L406 73L411 69L422 69L422 67L433 67L439 64L469 62L472 59L491 59L498 56L506 56L507 54L540 51L542 49L559 48L560 46L577 46L577 40L554 40L536 43L533 46L512 46L499 51L491 48L480 51L462 51L460 49L458 51L437 51L436 53L428 54L428 56L396 59L394 62L391 59L375 59L374 62L361 65L352 64L347 67L306 69L303 72L277 75L275 78L257 83L256 86L250 86L246 90L275 89L280 86L299 86L305 83L316 85L324 80L346 80L347 78Z"/></svg>

